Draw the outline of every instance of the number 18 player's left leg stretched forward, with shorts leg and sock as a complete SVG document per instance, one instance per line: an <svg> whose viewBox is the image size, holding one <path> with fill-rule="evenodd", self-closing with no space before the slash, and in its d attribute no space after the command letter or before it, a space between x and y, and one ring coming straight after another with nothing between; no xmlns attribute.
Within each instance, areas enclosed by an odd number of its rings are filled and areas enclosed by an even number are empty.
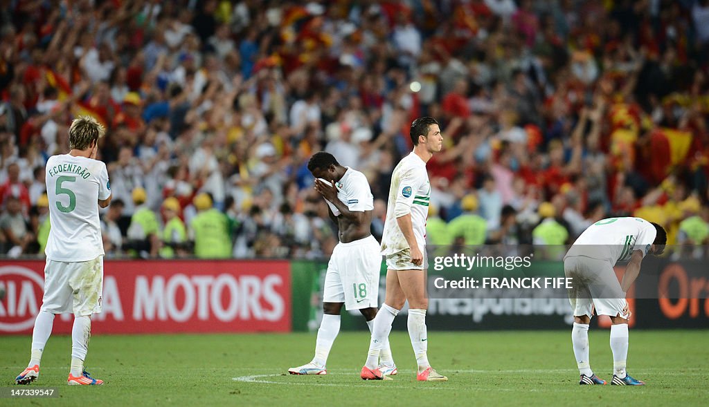
<svg viewBox="0 0 709 407"><path fill-rule="evenodd" d="M325 274L325 284L323 285L323 321L320 321L318 328L318 338L316 339L315 355L311 362L298 367L288 369L290 374L327 374L325 365L328 362L330 350L337 334L340 333L340 310L345 304L345 291L342 287L342 275L340 274L340 261L338 261L337 248L333 251L333 256L328 262L328 271Z"/></svg>

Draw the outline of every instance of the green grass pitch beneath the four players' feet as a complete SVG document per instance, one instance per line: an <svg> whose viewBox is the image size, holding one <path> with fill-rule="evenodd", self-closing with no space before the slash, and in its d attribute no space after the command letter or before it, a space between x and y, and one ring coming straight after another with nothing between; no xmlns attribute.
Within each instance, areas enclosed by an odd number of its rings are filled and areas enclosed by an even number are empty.
<svg viewBox="0 0 709 407"><path fill-rule="evenodd" d="M87 370L101 387L67 386L71 338L50 338L40 378L59 399L0 399L0 406L706 406L709 330L631 331L629 372L647 386L579 386L569 331L429 333L432 365L449 382L418 383L406 332L391 335L393 381L359 379L365 332L340 333L328 375L291 376L311 360L311 333L94 336ZM610 382L608 330L591 329L591 366ZM0 338L0 386L14 386L29 336ZM18 386L19 387L19 386Z"/></svg>

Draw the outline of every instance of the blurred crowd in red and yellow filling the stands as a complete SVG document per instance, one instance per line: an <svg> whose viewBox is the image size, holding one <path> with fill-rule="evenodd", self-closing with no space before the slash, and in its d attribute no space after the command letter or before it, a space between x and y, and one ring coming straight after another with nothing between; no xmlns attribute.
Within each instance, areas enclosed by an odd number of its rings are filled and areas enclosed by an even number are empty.
<svg viewBox="0 0 709 407"><path fill-rule="evenodd" d="M0 248L42 256L45 162L108 129L108 257L322 258L306 164L369 178L378 239L415 117L430 243L709 236L709 1L0 0Z"/></svg>

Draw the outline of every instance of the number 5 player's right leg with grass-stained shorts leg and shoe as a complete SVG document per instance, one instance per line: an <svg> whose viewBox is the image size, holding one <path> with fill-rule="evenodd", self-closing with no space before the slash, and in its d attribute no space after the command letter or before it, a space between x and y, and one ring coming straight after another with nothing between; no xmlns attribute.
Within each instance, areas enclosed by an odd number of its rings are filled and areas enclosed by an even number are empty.
<svg viewBox="0 0 709 407"><path fill-rule="evenodd" d="M89 352L91 315L101 312L101 293L104 290L104 256L94 260L68 263L69 285L74 289L72 326L72 363L67 384L101 385L84 370L84 360Z"/></svg>

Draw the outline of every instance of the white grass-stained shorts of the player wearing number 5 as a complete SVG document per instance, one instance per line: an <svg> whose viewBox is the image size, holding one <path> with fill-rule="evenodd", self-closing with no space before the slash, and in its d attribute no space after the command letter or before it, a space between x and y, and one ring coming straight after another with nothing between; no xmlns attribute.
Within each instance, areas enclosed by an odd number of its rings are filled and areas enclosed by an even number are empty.
<svg viewBox="0 0 709 407"><path fill-rule="evenodd" d="M101 312L104 256L67 263L47 259L42 311L89 316Z"/></svg>

